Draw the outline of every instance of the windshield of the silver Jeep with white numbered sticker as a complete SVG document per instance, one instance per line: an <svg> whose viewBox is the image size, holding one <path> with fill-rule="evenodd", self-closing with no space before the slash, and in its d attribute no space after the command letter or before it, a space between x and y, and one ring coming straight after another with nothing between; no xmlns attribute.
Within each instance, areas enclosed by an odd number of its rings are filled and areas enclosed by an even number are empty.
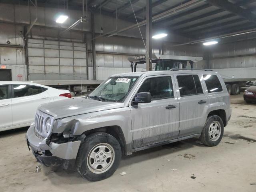
<svg viewBox="0 0 256 192"><path fill-rule="evenodd" d="M98 86L88 98L106 102L124 102L138 77L110 77Z"/></svg>

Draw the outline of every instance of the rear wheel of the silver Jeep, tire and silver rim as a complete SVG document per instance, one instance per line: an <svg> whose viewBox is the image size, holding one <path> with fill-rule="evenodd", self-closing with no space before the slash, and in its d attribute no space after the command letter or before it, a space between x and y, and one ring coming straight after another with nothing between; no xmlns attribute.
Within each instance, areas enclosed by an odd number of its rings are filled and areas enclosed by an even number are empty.
<svg viewBox="0 0 256 192"><path fill-rule="evenodd" d="M216 125L218 127L214 128ZM216 135L217 132L218 132L218 135ZM204 128L200 136L200 140L206 146L210 146L210 147L216 146L220 143L223 136L223 132L224 132L224 124L222 119L218 115L209 116L206 119L206 122L204 124Z"/></svg>

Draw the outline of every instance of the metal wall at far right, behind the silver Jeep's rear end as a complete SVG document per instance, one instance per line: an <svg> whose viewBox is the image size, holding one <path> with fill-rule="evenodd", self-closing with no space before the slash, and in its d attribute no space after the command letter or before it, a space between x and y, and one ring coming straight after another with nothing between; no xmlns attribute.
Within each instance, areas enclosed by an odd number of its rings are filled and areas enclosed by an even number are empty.
<svg viewBox="0 0 256 192"><path fill-rule="evenodd" d="M256 78L256 39L213 46L210 68L227 78Z"/></svg>

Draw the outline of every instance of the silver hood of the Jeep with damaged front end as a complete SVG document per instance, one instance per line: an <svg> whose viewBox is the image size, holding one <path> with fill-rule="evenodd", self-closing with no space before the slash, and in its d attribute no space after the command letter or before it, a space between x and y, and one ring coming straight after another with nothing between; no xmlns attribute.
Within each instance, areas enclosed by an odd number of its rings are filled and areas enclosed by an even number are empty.
<svg viewBox="0 0 256 192"><path fill-rule="evenodd" d="M55 119L124 107L124 103L102 102L94 99L72 98L46 103L39 110Z"/></svg>

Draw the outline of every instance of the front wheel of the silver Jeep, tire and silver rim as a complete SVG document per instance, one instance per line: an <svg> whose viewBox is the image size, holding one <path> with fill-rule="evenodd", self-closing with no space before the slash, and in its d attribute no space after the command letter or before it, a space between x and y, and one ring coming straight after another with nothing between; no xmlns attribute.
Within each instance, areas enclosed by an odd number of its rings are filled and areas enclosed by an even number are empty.
<svg viewBox="0 0 256 192"><path fill-rule="evenodd" d="M116 171L121 156L121 147L116 138L107 133L94 133L87 136L80 144L76 169L89 181L103 180Z"/></svg>

